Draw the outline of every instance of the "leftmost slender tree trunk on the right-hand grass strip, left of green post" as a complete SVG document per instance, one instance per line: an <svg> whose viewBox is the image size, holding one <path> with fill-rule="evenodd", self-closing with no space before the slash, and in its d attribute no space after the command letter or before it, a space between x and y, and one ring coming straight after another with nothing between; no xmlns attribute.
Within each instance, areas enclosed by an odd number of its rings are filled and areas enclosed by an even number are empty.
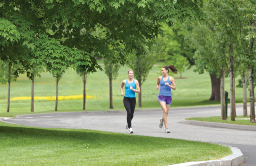
<svg viewBox="0 0 256 166"><path fill-rule="evenodd" d="M221 105L221 120L227 120L226 103L225 103L225 68L222 67L220 75L220 105Z"/></svg>

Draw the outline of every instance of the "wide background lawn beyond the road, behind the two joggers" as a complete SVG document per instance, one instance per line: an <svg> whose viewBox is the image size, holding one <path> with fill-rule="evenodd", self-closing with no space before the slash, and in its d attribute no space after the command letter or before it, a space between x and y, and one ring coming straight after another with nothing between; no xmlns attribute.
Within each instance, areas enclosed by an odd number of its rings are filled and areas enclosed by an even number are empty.
<svg viewBox="0 0 256 166"><path fill-rule="evenodd" d="M102 61L98 61L102 64ZM155 65L150 70L147 80L142 84L142 108L159 108L156 90L157 77L160 76L160 68ZM102 66L104 69L104 66ZM97 71L88 76L86 83L86 95L94 98L86 99L86 111L93 110L124 110L123 97L120 95L122 80L127 79L127 66L121 66L119 75L113 80L113 106L109 109L109 80L104 71ZM173 73L170 72L171 75ZM173 75L176 83L176 91L172 90L172 107L187 107L200 105L214 105L220 102L209 101L211 96L211 80L208 73L198 74L193 68L180 74ZM236 79L237 80L237 79ZM225 80L225 89L229 92L229 79ZM35 96L55 96L56 81L50 73L41 73L41 78L35 79ZM74 70L68 70L59 81L59 96L82 95L82 78ZM236 88L236 102L243 100L242 88ZM249 94L249 92L248 92ZM16 82L11 83L10 97L31 96L31 80L26 75L20 75ZM138 94L136 94L138 101ZM249 99L248 99L249 101ZM0 84L0 116L13 117L18 114L30 113L30 100L14 100L10 102L10 112L6 113L7 107L7 85ZM34 113L54 112L55 101L35 100ZM83 100L63 100L58 102L58 111L83 111Z"/></svg>

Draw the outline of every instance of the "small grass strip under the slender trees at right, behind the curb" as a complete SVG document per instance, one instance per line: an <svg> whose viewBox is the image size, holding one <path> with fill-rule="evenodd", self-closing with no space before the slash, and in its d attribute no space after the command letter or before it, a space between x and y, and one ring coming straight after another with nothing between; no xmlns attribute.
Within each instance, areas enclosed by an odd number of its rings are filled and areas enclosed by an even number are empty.
<svg viewBox="0 0 256 166"><path fill-rule="evenodd" d="M243 117L243 116L235 117L235 121L232 121L230 117L228 117L227 120L221 120L221 117L191 117L191 118L186 118L186 120L198 120L198 121L204 121L204 122L218 122L218 123L256 126L256 123L250 122L250 117Z"/></svg>

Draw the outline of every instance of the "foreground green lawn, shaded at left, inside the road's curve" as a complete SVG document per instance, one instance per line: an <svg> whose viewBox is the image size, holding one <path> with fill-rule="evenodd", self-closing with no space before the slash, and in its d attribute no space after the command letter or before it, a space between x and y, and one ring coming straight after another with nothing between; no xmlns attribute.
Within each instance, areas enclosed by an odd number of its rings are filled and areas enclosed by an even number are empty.
<svg viewBox="0 0 256 166"><path fill-rule="evenodd" d="M229 147L188 140L44 129L0 122L1 165L170 165L231 155Z"/></svg>

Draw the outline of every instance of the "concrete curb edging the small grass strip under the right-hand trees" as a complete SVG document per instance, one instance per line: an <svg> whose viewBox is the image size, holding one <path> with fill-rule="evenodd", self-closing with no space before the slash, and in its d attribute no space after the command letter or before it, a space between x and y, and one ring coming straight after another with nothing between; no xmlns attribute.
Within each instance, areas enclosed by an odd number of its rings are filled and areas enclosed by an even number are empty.
<svg viewBox="0 0 256 166"><path fill-rule="evenodd" d="M181 120L180 123L256 131L256 126L250 126L250 125L227 124L227 123L217 123L217 122L203 122L203 121L185 120L185 119Z"/></svg>

